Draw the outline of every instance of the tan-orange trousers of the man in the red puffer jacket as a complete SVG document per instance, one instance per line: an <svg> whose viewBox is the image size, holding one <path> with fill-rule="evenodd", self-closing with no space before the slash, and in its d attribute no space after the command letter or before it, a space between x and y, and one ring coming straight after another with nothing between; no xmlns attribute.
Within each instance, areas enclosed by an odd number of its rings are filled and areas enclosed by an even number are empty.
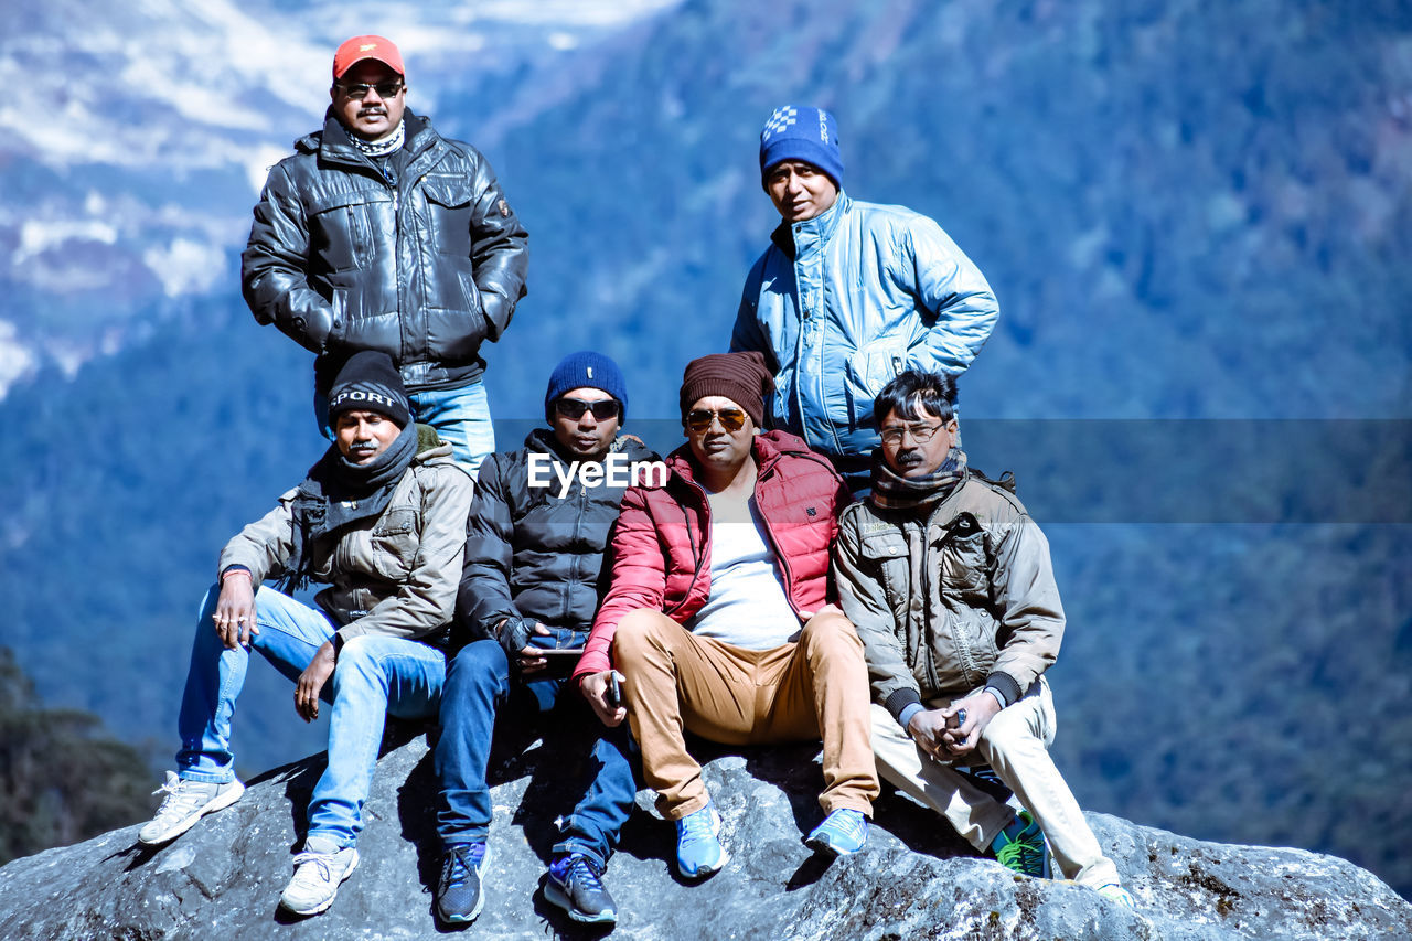
<svg viewBox="0 0 1412 941"><path fill-rule="evenodd" d="M681 819L706 805L700 764L685 732L723 745L823 739L825 812L873 815L877 767L868 740L868 673L863 641L836 606L809 619L796 643L744 650L698 637L654 609L618 622L613 661L642 749L642 776L657 808Z"/></svg>

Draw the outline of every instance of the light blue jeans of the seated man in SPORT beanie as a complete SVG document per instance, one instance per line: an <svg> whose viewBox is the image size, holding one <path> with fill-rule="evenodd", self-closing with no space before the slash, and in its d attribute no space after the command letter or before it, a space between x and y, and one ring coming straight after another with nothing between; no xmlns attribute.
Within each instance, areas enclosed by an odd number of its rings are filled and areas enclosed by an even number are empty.
<svg viewBox="0 0 1412 941"><path fill-rule="evenodd" d="M250 651L227 650L216 636L212 615L219 593L213 586L202 600L176 721L178 774L192 781L234 779L230 716L246 682ZM322 612L264 586L256 593L256 626L260 633L251 633L250 647L291 680L299 678L335 632ZM367 636L343 644L333 677L321 691L321 698L333 704L329 766L313 786L309 835L339 846L357 842L387 714L404 719L436 715L445 681L446 658L415 640Z"/></svg>

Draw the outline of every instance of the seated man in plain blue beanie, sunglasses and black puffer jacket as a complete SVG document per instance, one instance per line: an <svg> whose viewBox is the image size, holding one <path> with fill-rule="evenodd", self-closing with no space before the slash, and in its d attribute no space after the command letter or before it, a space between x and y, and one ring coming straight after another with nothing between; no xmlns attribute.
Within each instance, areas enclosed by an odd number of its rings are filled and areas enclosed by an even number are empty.
<svg viewBox="0 0 1412 941"><path fill-rule="evenodd" d="M563 773L586 759L592 780L563 821L544 894L578 921L617 920L602 876L637 794L627 726L604 729L566 678L599 606L603 548L630 470L657 455L618 434L627 386L602 353L566 356L544 404L549 428L486 458L470 507L456 600L456 627L469 643L448 667L436 745L445 848L436 913L449 924L472 921L484 901L496 716L522 722L551 712L541 728L555 730L551 750Z"/></svg>

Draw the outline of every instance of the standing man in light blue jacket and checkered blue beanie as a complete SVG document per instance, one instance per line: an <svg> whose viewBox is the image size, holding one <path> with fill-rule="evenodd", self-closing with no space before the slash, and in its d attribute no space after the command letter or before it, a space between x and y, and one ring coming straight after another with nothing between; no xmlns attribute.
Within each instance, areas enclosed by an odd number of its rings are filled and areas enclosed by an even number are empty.
<svg viewBox="0 0 1412 941"><path fill-rule="evenodd" d="M880 444L873 400L908 369L966 372L1000 308L933 220L843 192L829 112L775 109L760 172L781 223L746 278L730 349L764 353L771 427L803 438L861 495Z"/></svg>

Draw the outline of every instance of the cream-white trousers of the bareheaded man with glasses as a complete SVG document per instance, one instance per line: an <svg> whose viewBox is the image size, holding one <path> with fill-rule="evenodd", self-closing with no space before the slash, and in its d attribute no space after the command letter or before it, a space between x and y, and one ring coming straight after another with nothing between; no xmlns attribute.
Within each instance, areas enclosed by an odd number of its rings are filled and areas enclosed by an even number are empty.
<svg viewBox="0 0 1412 941"><path fill-rule="evenodd" d="M950 705L949 699L926 704L929 709L946 705ZM877 704L871 709L878 774L950 821L971 846L988 849L990 841L1011 821L1014 811L971 784L964 774L957 774L949 764L919 749L891 712ZM1045 831L1049 851L1065 879L1090 889L1121 882L1113 860L1099 848L1073 791L1049 757L1055 723L1053 697L1041 677L1019 702L1010 704L990 721L980 736L979 757L995 769L1000 780L1015 793L1015 800Z"/></svg>

